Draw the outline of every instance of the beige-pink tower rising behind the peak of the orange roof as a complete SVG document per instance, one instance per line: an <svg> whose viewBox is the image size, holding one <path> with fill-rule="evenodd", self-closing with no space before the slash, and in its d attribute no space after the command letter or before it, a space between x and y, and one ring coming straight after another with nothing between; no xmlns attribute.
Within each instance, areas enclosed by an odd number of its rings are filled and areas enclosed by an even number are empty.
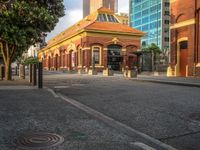
<svg viewBox="0 0 200 150"><path fill-rule="evenodd" d="M96 11L100 7L106 7L117 12L118 0L83 0L83 17Z"/></svg>

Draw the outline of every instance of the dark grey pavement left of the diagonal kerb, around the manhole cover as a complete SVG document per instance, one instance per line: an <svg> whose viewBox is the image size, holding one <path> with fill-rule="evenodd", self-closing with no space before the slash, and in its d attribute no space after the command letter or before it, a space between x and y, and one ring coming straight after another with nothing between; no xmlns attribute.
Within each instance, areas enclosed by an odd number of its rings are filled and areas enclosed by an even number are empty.
<svg viewBox="0 0 200 150"><path fill-rule="evenodd" d="M0 90L0 95L1 150L21 150L16 139L37 132L64 137L62 144L40 150L141 150L138 143L131 144L135 139L53 97L45 89Z"/></svg>

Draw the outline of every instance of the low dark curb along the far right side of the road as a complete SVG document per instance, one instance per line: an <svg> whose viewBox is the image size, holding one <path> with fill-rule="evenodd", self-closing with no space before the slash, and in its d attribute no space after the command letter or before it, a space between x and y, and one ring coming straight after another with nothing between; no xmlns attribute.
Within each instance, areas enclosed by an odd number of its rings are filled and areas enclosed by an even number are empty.
<svg viewBox="0 0 200 150"><path fill-rule="evenodd" d="M139 81L139 82L152 82L152 83L160 83L160 84L169 84L169 85L188 86L188 87L200 88L200 84L187 83L187 82L163 81L163 80L153 80L153 79L138 79L138 78L130 79L130 80Z"/></svg>

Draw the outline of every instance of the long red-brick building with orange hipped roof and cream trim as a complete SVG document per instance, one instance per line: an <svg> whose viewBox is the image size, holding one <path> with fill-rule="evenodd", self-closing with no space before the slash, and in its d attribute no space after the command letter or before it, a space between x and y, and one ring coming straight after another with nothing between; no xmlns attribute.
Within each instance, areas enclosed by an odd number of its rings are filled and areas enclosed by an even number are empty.
<svg viewBox="0 0 200 150"><path fill-rule="evenodd" d="M108 13L109 17L114 14L111 10L100 8L98 13L51 39L38 52L44 69L87 72L94 61L98 71L107 69L109 65L119 71L133 68L137 64L137 56L133 52L140 49L140 38L144 33L117 22L97 21L101 13Z"/></svg>

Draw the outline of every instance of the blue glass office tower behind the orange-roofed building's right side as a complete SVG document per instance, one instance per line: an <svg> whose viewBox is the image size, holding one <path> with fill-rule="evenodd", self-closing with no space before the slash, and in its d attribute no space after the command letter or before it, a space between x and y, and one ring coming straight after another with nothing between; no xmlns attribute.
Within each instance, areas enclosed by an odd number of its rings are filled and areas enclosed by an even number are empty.
<svg viewBox="0 0 200 150"><path fill-rule="evenodd" d="M130 26L146 33L142 46L169 49L169 0L130 0Z"/></svg>

